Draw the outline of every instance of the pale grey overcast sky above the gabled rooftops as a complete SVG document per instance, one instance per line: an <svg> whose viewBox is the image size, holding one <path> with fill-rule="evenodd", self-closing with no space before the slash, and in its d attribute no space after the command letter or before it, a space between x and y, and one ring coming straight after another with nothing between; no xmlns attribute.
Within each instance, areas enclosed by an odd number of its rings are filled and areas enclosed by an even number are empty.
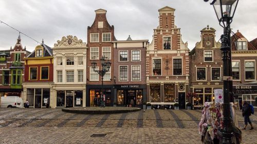
<svg viewBox="0 0 257 144"><path fill-rule="evenodd" d="M87 26L95 19L95 10L107 10L107 20L115 27L115 37L125 40L149 39L158 26L158 9L175 10L175 25L181 28L183 42L193 49L200 40L200 30L207 25L216 29L216 40L222 34L210 0L0 0L0 20L30 37L53 47L62 36L72 35L87 42ZM250 41L257 37L257 1L240 0L231 24ZM0 24L0 50L10 49L19 32ZM22 45L33 51L34 40L21 35Z"/></svg>

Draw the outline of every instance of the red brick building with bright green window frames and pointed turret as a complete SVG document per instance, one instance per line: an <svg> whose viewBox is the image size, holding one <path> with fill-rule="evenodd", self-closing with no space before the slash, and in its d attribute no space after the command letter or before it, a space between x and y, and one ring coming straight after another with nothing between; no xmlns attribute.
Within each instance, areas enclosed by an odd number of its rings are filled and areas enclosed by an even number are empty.
<svg viewBox="0 0 257 144"><path fill-rule="evenodd" d="M21 96L24 81L24 57L30 52L23 48L21 36L10 50L0 51L0 96Z"/></svg>

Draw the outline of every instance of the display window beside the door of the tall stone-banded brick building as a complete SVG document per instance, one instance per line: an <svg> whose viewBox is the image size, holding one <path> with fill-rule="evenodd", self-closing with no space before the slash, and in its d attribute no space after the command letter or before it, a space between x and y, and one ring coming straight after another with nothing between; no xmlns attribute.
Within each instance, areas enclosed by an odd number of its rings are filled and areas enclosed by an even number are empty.
<svg viewBox="0 0 257 144"><path fill-rule="evenodd" d="M164 84L164 102L175 102L174 84Z"/></svg>

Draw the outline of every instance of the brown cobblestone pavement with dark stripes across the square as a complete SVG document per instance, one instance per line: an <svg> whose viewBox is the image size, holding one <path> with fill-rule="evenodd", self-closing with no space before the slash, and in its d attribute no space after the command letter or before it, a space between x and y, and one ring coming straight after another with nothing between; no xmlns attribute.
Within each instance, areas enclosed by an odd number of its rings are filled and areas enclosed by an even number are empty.
<svg viewBox="0 0 257 144"><path fill-rule="evenodd" d="M243 126L241 111L236 111ZM0 108L0 143L201 143L200 110L146 110L120 114L74 114L61 109ZM242 143L256 143L255 129ZM104 137L91 136L106 134Z"/></svg>

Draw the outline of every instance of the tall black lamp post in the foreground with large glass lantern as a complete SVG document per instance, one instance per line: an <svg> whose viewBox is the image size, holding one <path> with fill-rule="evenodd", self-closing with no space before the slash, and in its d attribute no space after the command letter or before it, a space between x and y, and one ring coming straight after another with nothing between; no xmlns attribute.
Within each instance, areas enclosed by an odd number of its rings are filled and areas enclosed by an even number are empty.
<svg viewBox="0 0 257 144"><path fill-rule="evenodd" d="M209 0L204 0L208 2ZM233 81L231 67L231 42L230 42L230 24L232 22L238 0L213 0L212 3L218 18L219 25L224 29L221 35L221 50L223 60L223 124L222 143L233 143L233 124L230 116L230 102L233 102Z"/></svg>

